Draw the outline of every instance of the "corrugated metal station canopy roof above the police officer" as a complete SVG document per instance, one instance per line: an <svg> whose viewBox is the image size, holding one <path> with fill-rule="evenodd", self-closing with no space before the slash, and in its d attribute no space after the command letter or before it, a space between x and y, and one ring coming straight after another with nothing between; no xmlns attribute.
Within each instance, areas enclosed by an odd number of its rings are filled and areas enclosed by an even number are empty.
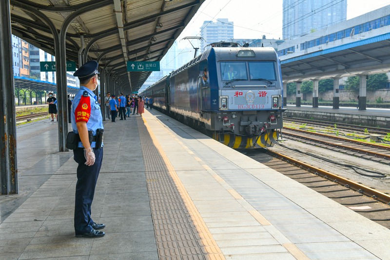
<svg viewBox="0 0 390 260"><path fill-rule="evenodd" d="M66 30L66 60L78 63L83 41L83 62L98 60L122 91L137 91L151 72L128 72L127 61L161 60L203 2L10 0L12 34L55 55L52 30Z"/></svg>

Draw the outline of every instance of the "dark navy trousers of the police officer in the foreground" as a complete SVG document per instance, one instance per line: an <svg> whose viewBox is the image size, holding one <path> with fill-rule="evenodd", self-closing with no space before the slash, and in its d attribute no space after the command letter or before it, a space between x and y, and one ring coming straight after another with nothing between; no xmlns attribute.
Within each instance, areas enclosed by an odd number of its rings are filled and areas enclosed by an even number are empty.
<svg viewBox="0 0 390 260"><path fill-rule="evenodd" d="M74 160L77 166L77 183L75 196L75 232L81 235L90 232L94 221L91 218L91 205L94 200L95 187L98 181L101 162L103 159L103 148L93 148L95 163L91 166L85 165L84 149L73 150Z"/></svg>

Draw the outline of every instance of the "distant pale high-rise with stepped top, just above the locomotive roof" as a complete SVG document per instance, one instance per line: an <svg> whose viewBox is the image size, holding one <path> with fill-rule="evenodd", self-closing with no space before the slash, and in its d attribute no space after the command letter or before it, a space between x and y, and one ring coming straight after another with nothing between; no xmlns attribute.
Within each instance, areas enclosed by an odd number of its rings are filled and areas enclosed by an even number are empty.
<svg viewBox="0 0 390 260"><path fill-rule="evenodd" d="M233 21L220 18L216 22L204 21L200 27L200 36L206 40L202 41L200 52L204 51L204 47L213 42L232 41L234 38Z"/></svg>

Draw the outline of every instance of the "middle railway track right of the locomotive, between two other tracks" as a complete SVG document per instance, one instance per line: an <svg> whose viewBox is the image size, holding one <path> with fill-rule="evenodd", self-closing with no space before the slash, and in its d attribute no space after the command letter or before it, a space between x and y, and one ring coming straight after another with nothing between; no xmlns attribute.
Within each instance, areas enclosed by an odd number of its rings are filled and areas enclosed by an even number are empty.
<svg viewBox="0 0 390 260"><path fill-rule="evenodd" d="M364 159L390 164L390 146L367 143L359 140L331 136L289 127L283 128L283 135L292 140L305 140L306 143L330 147L333 150L360 156ZM315 136L315 137L313 137Z"/></svg>

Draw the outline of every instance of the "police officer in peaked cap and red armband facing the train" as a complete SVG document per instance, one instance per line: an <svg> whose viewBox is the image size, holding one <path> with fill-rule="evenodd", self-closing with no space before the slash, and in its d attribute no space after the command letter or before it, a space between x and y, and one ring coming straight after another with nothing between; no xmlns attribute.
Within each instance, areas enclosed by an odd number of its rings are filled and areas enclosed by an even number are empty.
<svg viewBox="0 0 390 260"><path fill-rule="evenodd" d="M94 90L98 87L98 62L88 61L73 74L80 80L80 90L72 102L72 128L81 141L73 150L78 163L75 196L76 237L97 238L105 235L104 224L91 218L91 205L103 159L102 141L103 121Z"/></svg>

